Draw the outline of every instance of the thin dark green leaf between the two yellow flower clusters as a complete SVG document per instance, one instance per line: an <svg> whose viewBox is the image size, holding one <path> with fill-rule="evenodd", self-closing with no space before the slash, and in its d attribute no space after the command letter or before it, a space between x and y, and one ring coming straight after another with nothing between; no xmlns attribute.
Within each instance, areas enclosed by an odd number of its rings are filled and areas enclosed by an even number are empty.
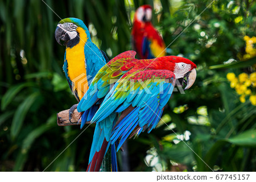
<svg viewBox="0 0 256 182"><path fill-rule="evenodd" d="M221 69L221 68L245 68L245 67L250 67L251 65L256 64L256 57L253 59L247 60L247 61L238 61L236 63L231 63L231 64L218 64L218 65L213 65L209 67L209 69Z"/></svg>

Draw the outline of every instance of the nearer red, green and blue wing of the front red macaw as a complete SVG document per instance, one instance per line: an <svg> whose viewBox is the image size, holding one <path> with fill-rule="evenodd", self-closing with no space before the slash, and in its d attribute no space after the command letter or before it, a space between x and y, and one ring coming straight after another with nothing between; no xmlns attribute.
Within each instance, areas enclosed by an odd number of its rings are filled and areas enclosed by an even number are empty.
<svg viewBox="0 0 256 182"><path fill-rule="evenodd" d="M154 129L174 89L175 75L167 70L137 71L122 77L105 97L92 122L101 122L113 112L119 113L112 130L112 144L117 150L129 135ZM135 132L136 133L136 132Z"/></svg>

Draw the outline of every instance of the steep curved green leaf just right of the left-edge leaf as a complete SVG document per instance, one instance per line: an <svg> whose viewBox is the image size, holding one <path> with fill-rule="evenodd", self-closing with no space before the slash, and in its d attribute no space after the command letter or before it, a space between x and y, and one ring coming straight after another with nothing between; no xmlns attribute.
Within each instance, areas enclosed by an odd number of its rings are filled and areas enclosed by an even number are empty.
<svg viewBox="0 0 256 182"><path fill-rule="evenodd" d="M33 93L26 98L19 105L18 109L14 113L13 122L11 123L11 138L14 139L18 135L23 121L26 117L28 110L30 109L31 105L35 102L36 98L39 96L39 93Z"/></svg>

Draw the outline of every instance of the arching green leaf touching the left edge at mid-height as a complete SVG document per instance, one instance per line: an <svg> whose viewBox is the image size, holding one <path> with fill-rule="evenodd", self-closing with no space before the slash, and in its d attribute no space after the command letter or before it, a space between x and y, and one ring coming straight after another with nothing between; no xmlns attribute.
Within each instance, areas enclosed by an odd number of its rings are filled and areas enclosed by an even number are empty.
<svg viewBox="0 0 256 182"><path fill-rule="evenodd" d="M20 90L22 90L25 87L34 86L34 85L35 84L32 82L27 82L27 83L12 86L9 90L7 90L7 92L5 93L5 95L2 98L1 109L5 110L7 105L10 104L10 102L13 100L13 98L16 96L16 94L20 92Z"/></svg>

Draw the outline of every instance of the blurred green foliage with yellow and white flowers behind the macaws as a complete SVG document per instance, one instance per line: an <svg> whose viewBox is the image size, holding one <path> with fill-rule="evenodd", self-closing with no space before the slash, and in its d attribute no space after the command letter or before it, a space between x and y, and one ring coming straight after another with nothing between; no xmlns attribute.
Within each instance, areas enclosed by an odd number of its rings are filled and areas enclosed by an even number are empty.
<svg viewBox="0 0 256 182"><path fill-rule="evenodd" d="M131 49L141 5L154 7L152 23L167 46L192 23L169 55L196 63L196 82L172 95L162 117L168 126L160 121L127 142L127 163L118 152L120 171L255 171L255 1L216 0L196 20L212 1L44 1L61 19L82 19L109 58ZM81 133L56 123L56 113L76 99L62 70L65 47L54 37L60 18L49 7L0 1L0 171L43 171ZM89 126L46 171L85 171L93 131Z"/></svg>

